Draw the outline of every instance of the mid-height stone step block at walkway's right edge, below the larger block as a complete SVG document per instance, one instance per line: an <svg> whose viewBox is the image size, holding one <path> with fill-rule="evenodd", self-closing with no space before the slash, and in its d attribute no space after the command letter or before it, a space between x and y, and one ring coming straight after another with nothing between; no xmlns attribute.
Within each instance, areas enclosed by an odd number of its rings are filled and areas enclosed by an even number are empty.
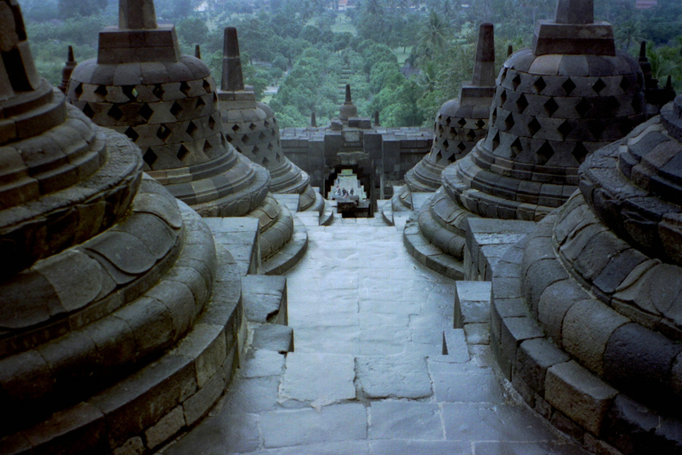
<svg viewBox="0 0 682 455"><path fill-rule="evenodd" d="M488 281L456 282L454 327L470 345L490 344L490 288Z"/></svg>

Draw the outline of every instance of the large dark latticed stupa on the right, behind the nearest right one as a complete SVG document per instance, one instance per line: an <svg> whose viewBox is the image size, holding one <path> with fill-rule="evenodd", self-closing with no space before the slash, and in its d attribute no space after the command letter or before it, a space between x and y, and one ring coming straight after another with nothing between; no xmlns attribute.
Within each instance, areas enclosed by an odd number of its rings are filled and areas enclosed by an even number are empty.
<svg viewBox="0 0 682 455"><path fill-rule="evenodd" d="M556 20L538 21L533 48L504 62L485 139L442 172L418 228L408 222L407 243L432 243L449 275L462 275L467 219L542 220L573 194L591 152L645 120L638 62L615 50L593 9L593 0L559 0Z"/></svg>

